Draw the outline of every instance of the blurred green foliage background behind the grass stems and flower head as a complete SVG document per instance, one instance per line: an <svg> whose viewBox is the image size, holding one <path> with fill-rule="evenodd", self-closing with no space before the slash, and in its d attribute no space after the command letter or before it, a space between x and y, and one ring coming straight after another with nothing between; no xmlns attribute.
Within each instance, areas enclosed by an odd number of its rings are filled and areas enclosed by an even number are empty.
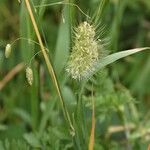
<svg viewBox="0 0 150 150"><path fill-rule="evenodd" d="M32 1L35 5L56 2ZM100 0L70 2L92 15ZM126 57L96 74L85 86L80 110L76 101L80 83L70 79L64 67L71 50L73 27L86 17L69 5L41 7L37 14L43 41L49 48L67 109L78 132L75 141L72 140L56 90L39 54L32 61L34 82L31 87L22 70L0 91L0 150L87 149L92 91L96 111L95 150L147 149L150 144L149 51ZM149 46L150 1L110 0L104 9L102 24L106 25L104 30L108 30L107 49L110 53ZM39 46L20 40L6 60L5 45L18 37L36 40L24 1L19 4L17 0L1 0L0 81L18 63L28 64L40 50ZM112 127L120 126L124 130L110 132Z"/></svg>

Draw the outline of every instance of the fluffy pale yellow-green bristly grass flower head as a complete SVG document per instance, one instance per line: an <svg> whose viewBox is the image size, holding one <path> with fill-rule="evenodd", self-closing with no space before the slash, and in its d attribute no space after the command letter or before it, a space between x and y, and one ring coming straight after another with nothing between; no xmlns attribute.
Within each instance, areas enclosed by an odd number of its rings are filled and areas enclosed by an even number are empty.
<svg viewBox="0 0 150 150"><path fill-rule="evenodd" d="M73 79L86 79L95 70L99 58L99 46L95 36L94 27L86 21L75 29L74 46L66 67Z"/></svg>

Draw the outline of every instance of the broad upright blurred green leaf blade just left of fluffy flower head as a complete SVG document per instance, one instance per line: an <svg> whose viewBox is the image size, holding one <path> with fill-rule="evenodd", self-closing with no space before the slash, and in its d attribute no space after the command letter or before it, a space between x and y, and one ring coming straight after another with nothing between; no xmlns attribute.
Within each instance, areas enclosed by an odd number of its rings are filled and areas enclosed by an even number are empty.
<svg viewBox="0 0 150 150"><path fill-rule="evenodd" d="M69 46L70 46L70 25L69 25L69 7L64 6L62 13L62 19L59 26L56 50L55 50L55 59L54 66L56 73L59 75L62 69L64 68L67 57L69 55Z"/></svg>

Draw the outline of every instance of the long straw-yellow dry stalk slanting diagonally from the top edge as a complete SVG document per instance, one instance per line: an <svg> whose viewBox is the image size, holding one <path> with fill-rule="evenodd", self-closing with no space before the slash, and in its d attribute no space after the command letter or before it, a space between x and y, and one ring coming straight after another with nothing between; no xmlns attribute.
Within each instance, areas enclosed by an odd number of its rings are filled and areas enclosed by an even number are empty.
<svg viewBox="0 0 150 150"><path fill-rule="evenodd" d="M54 72L53 66L52 66L52 64L50 62L50 59L49 59L49 57L48 57L48 55L46 53L44 44L42 42L42 39L41 39L41 36L40 36L40 32L38 30L38 26L37 26L37 23L35 21L35 18L34 18L32 9L31 9L31 6L30 6L30 2L29 2L29 0L25 0L25 3L26 3L27 10L29 12L29 15L30 15L30 18L31 18L31 21L32 21L32 24L33 24L33 27L34 27L34 30L35 30L35 33L36 33L36 36L38 38L38 41L39 41L39 44L40 44L40 47L41 47L41 51L42 51L42 54L43 54L43 57L44 57L44 60L46 62L47 68L48 68L48 72L49 72L51 78L53 79L54 85L56 87L56 90L57 90L57 93L58 93L58 96L59 96L59 99L60 99L60 102L62 104L63 114L64 114L65 119L67 120L67 122L68 122L68 124L70 126L70 129L72 131L74 131L74 128L73 128L73 125L72 125L69 113L68 113L68 111L66 109L65 102L64 102L62 94L61 94L61 90L60 90L59 83L58 83L57 78L56 78L56 74Z"/></svg>

